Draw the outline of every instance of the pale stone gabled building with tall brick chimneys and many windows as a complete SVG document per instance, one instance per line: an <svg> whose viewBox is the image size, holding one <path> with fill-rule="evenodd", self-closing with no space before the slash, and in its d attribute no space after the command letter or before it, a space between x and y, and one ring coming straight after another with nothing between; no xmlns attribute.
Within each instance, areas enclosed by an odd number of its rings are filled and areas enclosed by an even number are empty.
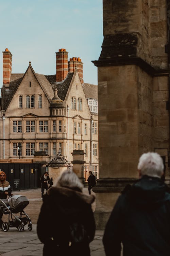
<svg viewBox="0 0 170 256"><path fill-rule="evenodd" d="M86 168L95 171L98 167L96 106L97 85L83 82L80 58L68 61L68 52L59 49L56 74L37 74L31 62L24 74L13 74L12 54L6 48L1 88L1 162L42 162L46 166L58 152L71 162L71 152L83 150Z"/></svg>

